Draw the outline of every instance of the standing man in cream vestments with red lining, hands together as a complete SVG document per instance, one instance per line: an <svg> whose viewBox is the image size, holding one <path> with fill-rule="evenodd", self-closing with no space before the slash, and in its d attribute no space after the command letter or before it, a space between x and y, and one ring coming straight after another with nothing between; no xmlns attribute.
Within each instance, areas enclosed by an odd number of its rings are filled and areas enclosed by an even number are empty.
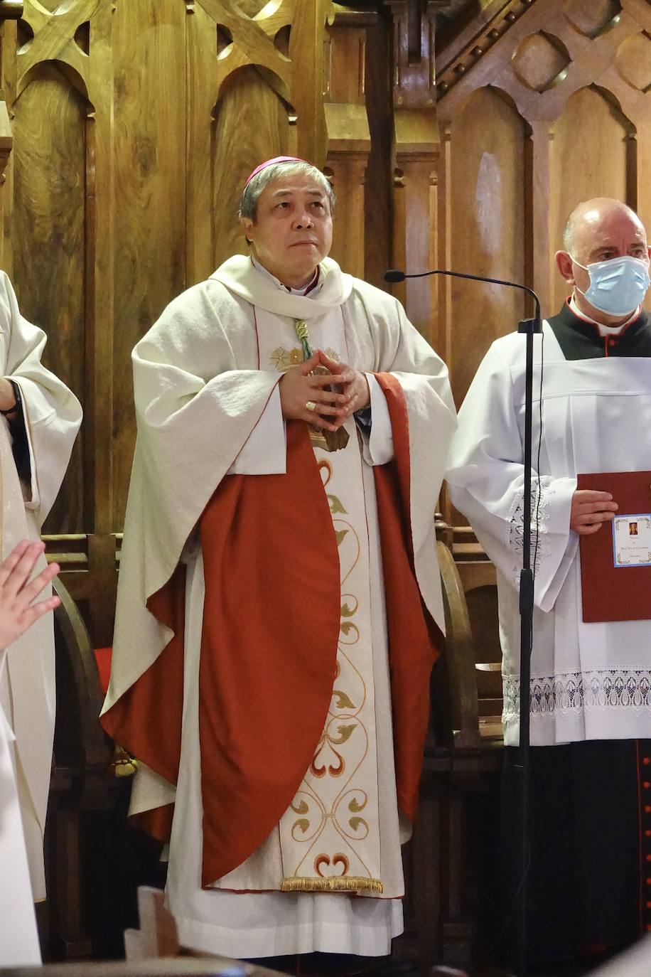
<svg viewBox="0 0 651 977"><path fill-rule="evenodd" d="M169 836L183 944L384 955L443 627L433 516L454 407L399 304L326 257L322 174L275 160L247 191L251 256L134 351L103 723L142 758L132 813Z"/></svg>

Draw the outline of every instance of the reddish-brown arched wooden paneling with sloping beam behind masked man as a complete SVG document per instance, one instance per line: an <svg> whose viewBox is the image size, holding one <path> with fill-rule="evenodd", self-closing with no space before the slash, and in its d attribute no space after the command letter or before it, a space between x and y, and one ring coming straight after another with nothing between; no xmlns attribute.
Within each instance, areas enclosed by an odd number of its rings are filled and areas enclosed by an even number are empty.
<svg viewBox="0 0 651 977"><path fill-rule="evenodd" d="M615 196L651 226L650 32L644 0L534 0L505 3L456 49L448 44L436 77L444 263L459 268L463 258L478 274L522 280L553 315L567 294L553 253L577 203ZM486 214L492 240L481 231ZM467 295L451 286L438 307L458 402L489 339L523 308L492 289L477 286L474 305Z"/></svg>

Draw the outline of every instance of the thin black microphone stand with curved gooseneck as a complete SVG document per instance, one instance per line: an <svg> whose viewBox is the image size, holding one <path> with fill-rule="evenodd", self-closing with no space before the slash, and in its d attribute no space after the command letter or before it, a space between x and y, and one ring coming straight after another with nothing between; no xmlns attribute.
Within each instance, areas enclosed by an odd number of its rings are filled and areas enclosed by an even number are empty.
<svg viewBox="0 0 651 977"><path fill-rule="evenodd" d="M385 273L385 281L403 281L405 278L423 278L427 275L446 275L453 278L470 278L473 281L489 281L496 285L520 288L531 295L535 302L533 319L518 322L517 331L526 337L525 388L524 388L524 525L522 534L522 570L520 571L520 885L516 893L518 910L518 975L527 974L527 873L529 869L529 777L530 777L530 703L531 648L533 642L534 574L531 569L531 445L533 420L534 333L542 332L541 304L532 288L503 278L468 275L466 272L447 272L435 269L417 275L406 275L395 269ZM542 364L541 364L542 369ZM540 478L540 472L537 473ZM540 482L538 491L540 492Z"/></svg>

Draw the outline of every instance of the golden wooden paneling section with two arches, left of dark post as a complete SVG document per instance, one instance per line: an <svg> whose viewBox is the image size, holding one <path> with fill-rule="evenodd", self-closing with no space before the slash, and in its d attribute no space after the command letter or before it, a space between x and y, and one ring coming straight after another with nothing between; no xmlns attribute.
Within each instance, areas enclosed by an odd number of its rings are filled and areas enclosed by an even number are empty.
<svg viewBox="0 0 651 977"><path fill-rule="evenodd" d="M110 533L122 527L136 434L133 346L184 287L244 249L236 210L253 166L279 152L323 165L333 7L23 6L18 26L2 28L2 91L15 135L2 257L25 316L50 335L48 362L85 408L48 529ZM346 54L336 57L333 78L347 100ZM341 192L363 227L363 174L353 162L346 159ZM363 255L363 234L355 247Z"/></svg>

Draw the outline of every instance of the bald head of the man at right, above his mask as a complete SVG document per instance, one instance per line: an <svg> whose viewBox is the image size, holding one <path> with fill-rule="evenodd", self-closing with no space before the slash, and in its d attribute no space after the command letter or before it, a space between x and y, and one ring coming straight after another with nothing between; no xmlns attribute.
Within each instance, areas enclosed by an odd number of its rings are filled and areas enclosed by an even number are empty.
<svg viewBox="0 0 651 977"><path fill-rule="evenodd" d="M628 241L624 254L633 253L630 247L636 251L646 248L644 225L635 211L621 200L596 196L580 203L570 214L563 232L563 247L584 265L590 261L605 261L616 255L608 252L594 257L593 252L595 248L607 249L613 236L622 243ZM634 256L644 257L641 253Z"/></svg>

